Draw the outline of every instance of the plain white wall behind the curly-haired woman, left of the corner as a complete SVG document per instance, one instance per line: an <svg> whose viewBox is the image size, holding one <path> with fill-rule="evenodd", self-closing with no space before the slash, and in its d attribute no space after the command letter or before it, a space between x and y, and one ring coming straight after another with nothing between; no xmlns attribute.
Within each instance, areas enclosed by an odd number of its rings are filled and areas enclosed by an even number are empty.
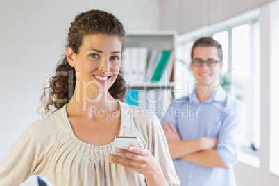
<svg viewBox="0 0 279 186"><path fill-rule="evenodd" d="M159 0L0 1L0 162L41 118L39 98L64 52L69 24L92 8L115 14L126 31L159 29Z"/></svg>

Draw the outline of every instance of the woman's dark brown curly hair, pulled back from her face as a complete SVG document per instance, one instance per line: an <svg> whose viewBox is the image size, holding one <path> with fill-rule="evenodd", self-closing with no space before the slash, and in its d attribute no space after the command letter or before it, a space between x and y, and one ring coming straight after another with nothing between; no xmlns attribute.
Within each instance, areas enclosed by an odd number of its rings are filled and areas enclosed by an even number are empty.
<svg viewBox="0 0 279 186"><path fill-rule="evenodd" d="M102 10L90 10L76 15L74 22L69 28L67 47L71 47L74 53L78 53L83 44L83 37L90 34L115 35L119 37L122 44L121 52L126 49L126 33L124 26L112 14ZM46 116L49 112L54 112L69 103L74 94L76 85L76 71L69 65L67 56L58 62L56 73L49 79L49 87L45 87L40 97L41 108L44 107L42 115ZM115 83L108 92L115 99L124 101L126 96L126 81L122 71L119 71Z"/></svg>

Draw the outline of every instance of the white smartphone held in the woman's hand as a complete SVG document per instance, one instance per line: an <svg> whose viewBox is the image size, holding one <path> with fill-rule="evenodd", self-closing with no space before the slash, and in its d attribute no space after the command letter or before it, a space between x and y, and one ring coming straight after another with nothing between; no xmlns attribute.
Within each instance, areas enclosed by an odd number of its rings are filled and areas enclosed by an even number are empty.
<svg viewBox="0 0 279 186"><path fill-rule="evenodd" d="M130 146L137 146L137 144L139 144L138 137L118 136L118 137L115 137L115 140L113 140L112 151L110 153L119 155L119 153L115 152L115 148L125 149L128 151ZM126 156L124 156L124 155L119 155L119 156L126 158Z"/></svg>

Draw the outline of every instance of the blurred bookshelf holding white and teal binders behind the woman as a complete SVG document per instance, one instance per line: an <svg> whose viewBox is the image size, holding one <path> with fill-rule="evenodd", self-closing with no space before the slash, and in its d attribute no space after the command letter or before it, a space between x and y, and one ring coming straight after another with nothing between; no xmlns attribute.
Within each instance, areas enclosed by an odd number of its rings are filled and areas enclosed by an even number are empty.
<svg viewBox="0 0 279 186"><path fill-rule="evenodd" d="M175 31L128 33L122 69L126 103L153 110L161 120L173 97Z"/></svg>

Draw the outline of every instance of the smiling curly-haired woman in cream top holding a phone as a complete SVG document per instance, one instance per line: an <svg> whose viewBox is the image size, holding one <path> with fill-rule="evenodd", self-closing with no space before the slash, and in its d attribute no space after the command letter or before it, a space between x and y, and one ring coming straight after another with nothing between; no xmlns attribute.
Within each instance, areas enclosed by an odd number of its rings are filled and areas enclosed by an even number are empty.
<svg viewBox="0 0 279 186"><path fill-rule="evenodd" d="M44 174L53 185L179 185L158 119L119 101L126 94L119 73L126 47L121 22L101 10L83 12L67 42L41 97L45 115L56 111L12 147L0 164L0 185L19 185L32 174ZM116 149L128 158L112 155L116 136L139 137L139 146Z"/></svg>

